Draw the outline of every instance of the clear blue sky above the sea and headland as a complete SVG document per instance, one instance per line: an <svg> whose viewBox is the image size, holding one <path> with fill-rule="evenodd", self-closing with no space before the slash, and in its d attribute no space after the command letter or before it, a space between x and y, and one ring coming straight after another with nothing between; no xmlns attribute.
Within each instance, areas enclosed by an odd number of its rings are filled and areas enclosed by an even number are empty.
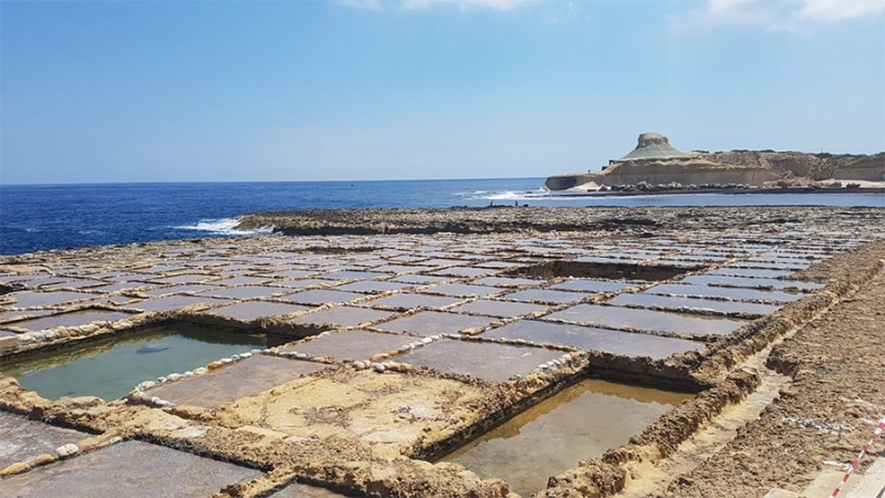
<svg viewBox="0 0 885 498"><path fill-rule="evenodd" d="M885 151L885 0L0 0L0 184Z"/></svg>

